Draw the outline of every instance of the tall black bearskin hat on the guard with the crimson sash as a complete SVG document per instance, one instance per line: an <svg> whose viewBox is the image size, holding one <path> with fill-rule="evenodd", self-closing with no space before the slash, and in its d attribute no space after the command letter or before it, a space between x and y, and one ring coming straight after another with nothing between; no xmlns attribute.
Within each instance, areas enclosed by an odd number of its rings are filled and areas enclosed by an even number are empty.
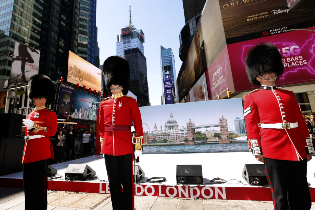
<svg viewBox="0 0 315 210"><path fill-rule="evenodd" d="M108 57L103 64L105 87L110 94L112 84L123 86L123 94L126 95L129 91L130 68L128 60L115 55Z"/></svg>

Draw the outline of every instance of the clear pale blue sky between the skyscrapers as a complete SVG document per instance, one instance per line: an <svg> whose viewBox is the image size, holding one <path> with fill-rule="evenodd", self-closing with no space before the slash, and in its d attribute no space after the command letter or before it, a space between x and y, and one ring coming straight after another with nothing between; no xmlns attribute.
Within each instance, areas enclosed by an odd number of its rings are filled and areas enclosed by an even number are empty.
<svg viewBox="0 0 315 210"><path fill-rule="evenodd" d="M137 30L145 34L149 96L151 105L161 105L160 45L172 48L175 57L176 76L182 61L179 59L179 33L185 25L182 0L131 0L131 21ZM96 26L100 63L116 55L117 35L129 24L129 0L98 0Z"/></svg>

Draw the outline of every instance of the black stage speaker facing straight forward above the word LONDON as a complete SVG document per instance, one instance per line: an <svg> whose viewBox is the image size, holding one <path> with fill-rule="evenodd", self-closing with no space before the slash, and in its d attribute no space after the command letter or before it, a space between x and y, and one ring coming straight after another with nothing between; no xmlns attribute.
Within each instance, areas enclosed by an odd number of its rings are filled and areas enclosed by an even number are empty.
<svg viewBox="0 0 315 210"><path fill-rule="evenodd" d="M176 165L177 184L202 184L201 165Z"/></svg>

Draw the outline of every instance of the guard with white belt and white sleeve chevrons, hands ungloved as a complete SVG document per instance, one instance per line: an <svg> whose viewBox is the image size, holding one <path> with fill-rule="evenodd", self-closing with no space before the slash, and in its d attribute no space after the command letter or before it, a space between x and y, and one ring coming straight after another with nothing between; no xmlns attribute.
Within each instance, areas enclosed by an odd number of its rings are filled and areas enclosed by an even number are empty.
<svg viewBox="0 0 315 210"><path fill-rule="evenodd" d="M275 85L284 69L278 48L261 43L246 56L249 81L261 85L244 96L250 150L264 162L275 209L310 209L307 161L314 149L294 93Z"/></svg>

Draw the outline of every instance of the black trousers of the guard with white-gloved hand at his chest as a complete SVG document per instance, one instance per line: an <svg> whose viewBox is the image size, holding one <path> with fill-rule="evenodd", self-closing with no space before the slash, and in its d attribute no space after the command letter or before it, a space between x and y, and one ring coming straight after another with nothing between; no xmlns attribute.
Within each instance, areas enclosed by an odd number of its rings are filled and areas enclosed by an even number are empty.
<svg viewBox="0 0 315 210"><path fill-rule="evenodd" d="M47 209L48 160L23 163L25 209Z"/></svg>

